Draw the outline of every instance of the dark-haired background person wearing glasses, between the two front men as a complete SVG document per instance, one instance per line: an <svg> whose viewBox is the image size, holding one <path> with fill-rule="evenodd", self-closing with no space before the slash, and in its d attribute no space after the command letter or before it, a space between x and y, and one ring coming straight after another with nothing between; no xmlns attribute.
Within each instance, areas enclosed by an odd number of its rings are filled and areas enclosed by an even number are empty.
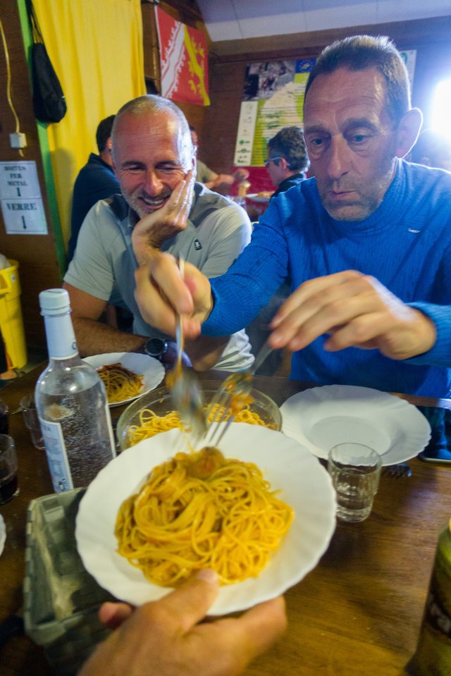
<svg viewBox="0 0 451 676"><path fill-rule="evenodd" d="M299 127L284 127L268 140L268 159L264 164L277 190L273 197L307 178L310 166L304 134Z"/></svg>

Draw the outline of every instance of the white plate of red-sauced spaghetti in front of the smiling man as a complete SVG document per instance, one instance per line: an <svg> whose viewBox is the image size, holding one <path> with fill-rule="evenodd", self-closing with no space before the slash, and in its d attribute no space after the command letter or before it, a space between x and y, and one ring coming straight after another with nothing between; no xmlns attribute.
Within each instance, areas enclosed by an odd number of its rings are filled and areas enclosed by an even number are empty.
<svg viewBox="0 0 451 676"><path fill-rule="evenodd" d="M104 381L110 406L127 404L154 390L164 378L164 367L154 357L137 352L108 352L85 357Z"/></svg>

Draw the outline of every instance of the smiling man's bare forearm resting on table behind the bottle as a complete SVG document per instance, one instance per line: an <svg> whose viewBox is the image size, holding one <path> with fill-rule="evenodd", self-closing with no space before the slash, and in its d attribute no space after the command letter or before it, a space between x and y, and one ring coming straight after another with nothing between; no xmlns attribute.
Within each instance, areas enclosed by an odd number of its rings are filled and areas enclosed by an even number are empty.
<svg viewBox="0 0 451 676"><path fill-rule="evenodd" d="M105 352L132 352L147 340L144 336L118 331L117 328L101 324L94 319L73 317L72 321L78 350L82 357L101 355Z"/></svg>

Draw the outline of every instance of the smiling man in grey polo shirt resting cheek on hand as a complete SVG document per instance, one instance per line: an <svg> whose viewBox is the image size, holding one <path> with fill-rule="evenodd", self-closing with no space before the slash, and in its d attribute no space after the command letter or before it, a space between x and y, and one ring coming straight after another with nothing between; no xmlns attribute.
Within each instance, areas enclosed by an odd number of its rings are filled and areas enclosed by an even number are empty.
<svg viewBox="0 0 451 676"><path fill-rule="evenodd" d="M169 336L147 324L137 307L137 266L161 249L207 276L223 274L249 242L251 224L232 200L194 183L190 130L183 112L168 99L144 95L125 104L111 139L122 195L101 200L89 211L64 277L78 347L84 356L144 350L171 362ZM132 333L99 321L107 302L121 302L132 312ZM245 331L200 336L185 350L201 371L240 370L254 360Z"/></svg>

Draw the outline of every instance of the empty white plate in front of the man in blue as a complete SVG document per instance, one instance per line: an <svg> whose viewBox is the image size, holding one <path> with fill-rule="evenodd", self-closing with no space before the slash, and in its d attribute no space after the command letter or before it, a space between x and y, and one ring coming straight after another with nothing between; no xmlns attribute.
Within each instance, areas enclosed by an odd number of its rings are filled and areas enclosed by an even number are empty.
<svg viewBox="0 0 451 676"><path fill-rule="evenodd" d="M367 387L325 385L299 392L280 407L282 431L324 459L337 443L364 443L395 465L418 455L431 426L404 399Z"/></svg>

